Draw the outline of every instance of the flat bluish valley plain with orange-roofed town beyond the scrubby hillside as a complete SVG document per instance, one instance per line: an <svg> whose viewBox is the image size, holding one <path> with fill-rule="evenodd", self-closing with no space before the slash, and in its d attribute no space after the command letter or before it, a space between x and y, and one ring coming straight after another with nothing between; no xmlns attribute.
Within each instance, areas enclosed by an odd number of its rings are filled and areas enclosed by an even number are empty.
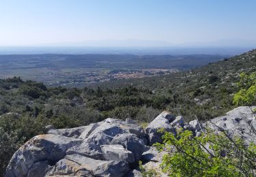
<svg viewBox="0 0 256 177"><path fill-rule="evenodd" d="M0 55L0 78L19 76L48 86L86 86L127 78L162 76L201 67L225 55L10 54Z"/></svg>

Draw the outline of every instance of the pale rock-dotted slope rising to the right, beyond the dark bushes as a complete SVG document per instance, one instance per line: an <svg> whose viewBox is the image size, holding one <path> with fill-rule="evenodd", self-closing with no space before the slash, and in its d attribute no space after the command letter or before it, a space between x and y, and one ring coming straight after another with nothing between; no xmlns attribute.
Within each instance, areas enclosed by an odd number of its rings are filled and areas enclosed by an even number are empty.
<svg viewBox="0 0 256 177"><path fill-rule="evenodd" d="M256 50L192 71L169 76L91 84L90 87L116 89L132 86L141 90L149 89L154 95L152 97L158 99L155 101L165 102L160 103L158 108L177 112L187 119L195 118L194 114L201 119L209 119L233 108L232 94L238 90L236 82L240 74L253 71L256 71ZM157 107L154 103L152 106Z"/></svg>

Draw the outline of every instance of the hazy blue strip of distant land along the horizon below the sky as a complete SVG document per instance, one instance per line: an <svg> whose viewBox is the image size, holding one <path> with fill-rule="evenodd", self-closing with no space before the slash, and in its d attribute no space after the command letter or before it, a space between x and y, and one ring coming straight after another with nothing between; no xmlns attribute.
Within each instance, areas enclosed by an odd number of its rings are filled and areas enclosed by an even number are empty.
<svg viewBox="0 0 256 177"><path fill-rule="evenodd" d="M182 54L212 54L212 55L225 55L234 56L242 54L248 50L252 50L253 47L243 48L186 48L186 47L1 47L0 55L3 54L170 54L170 55L182 55Z"/></svg>

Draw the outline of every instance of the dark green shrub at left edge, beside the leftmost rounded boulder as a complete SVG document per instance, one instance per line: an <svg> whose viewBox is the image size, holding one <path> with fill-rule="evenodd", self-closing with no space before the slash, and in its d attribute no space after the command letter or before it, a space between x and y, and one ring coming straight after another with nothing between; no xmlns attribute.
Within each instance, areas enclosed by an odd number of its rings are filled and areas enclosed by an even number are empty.
<svg viewBox="0 0 256 177"><path fill-rule="evenodd" d="M27 140L44 132L44 119L29 116L1 116L0 118L0 174L4 174L14 152Z"/></svg>

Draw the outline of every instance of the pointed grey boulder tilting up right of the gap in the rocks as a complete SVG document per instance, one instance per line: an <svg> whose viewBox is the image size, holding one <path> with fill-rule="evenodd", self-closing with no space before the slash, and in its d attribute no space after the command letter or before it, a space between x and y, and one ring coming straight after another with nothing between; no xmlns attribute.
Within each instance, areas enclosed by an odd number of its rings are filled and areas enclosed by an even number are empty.
<svg viewBox="0 0 256 177"><path fill-rule="evenodd" d="M173 120L175 120L175 116L171 115L170 112L164 111L146 127L145 131L148 134L150 146L156 142L162 142L162 133L158 132L159 129L175 133L175 128L171 125Z"/></svg>

